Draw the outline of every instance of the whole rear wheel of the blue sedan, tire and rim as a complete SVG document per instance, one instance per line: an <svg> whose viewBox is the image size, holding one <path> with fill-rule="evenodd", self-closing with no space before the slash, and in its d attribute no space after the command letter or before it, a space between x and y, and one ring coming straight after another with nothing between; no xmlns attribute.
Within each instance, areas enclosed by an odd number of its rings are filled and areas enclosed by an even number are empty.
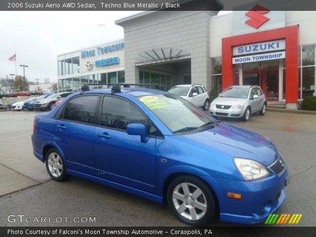
<svg viewBox="0 0 316 237"><path fill-rule="evenodd" d="M51 148L47 152L45 163L47 172L53 180L65 181L70 177L66 172L65 161L57 149Z"/></svg>

